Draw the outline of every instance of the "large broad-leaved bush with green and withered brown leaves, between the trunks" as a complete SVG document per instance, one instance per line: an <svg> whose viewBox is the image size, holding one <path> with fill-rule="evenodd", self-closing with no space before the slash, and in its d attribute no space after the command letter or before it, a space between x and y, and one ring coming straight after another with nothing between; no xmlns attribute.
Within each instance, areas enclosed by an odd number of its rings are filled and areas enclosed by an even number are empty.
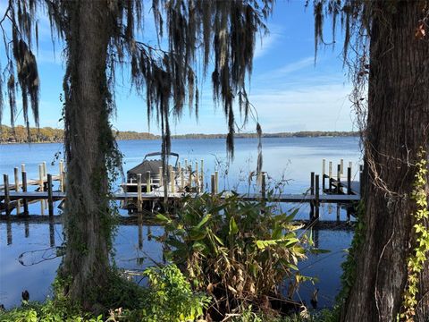
<svg viewBox="0 0 429 322"><path fill-rule="evenodd" d="M177 218L157 217L165 225L167 257L180 265L193 285L214 297L218 310L240 311L269 305L289 279L290 294L305 277L298 261L306 258L304 243L293 225L295 212L275 214L264 201L232 194L226 199L203 194L186 197ZM265 301L265 304L264 304Z"/></svg>

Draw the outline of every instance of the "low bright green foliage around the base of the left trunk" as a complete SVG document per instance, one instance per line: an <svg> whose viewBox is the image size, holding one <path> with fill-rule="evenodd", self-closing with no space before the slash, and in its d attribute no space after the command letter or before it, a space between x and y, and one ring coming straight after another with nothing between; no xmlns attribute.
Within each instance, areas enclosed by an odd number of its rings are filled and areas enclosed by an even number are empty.
<svg viewBox="0 0 429 322"><path fill-rule="evenodd" d="M98 322L98 321L147 321L180 322L196 320L203 314L210 298L193 293L189 282L174 265L151 267L144 272L149 287L141 288L116 275L116 280L105 291L102 302L111 309L105 315L91 316L79 306L72 305L64 295L63 283L54 283L55 299L45 303L23 302L21 308L2 312L0 322Z"/></svg>

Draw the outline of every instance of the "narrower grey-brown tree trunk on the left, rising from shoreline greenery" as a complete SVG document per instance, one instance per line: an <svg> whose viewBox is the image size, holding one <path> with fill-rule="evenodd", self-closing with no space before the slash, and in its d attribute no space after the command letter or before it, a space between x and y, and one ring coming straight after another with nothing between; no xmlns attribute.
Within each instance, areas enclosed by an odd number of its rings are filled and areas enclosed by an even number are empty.
<svg viewBox="0 0 429 322"><path fill-rule="evenodd" d="M106 199L106 157L113 137L109 124L106 53L109 43L105 1L64 4L67 70L64 77L67 199L64 209L66 250L60 273L71 301L94 309L107 283L111 245Z"/></svg>

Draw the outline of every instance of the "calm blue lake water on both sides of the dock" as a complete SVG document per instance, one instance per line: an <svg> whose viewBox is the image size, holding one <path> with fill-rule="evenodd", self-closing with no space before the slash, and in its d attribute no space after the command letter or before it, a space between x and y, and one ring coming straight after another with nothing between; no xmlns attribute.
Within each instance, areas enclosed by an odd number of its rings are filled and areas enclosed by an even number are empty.
<svg viewBox="0 0 429 322"><path fill-rule="evenodd" d="M159 140L130 140L119 142L124 154L123 169L126 172L138 165L145 154L159 151ZM29 178L38 178L38 165L46 161L47 173L58 173L55 156L62 157L62 144L0 145L0 174L13 178L13 167L26 165ZM248 187L248 173L256 169L257 140L237 139L235 158L228 165L225 140L173 140L172 151L189 162L204 159L205 178L218 170L220 189L234 189L245 192ZM358 138L273 138L263 140L263 169L272 178L270 182L282 182L283 193L301 193L309 187L310 172L322 173L322 159L333 162L333 169L344 159L345 166L352 163L352 176L357 177L361 158ZM51 164L54 163L54 164ZM227 174L227 175L226 175ZM10 181L13 181L13 179ZM118 185L120 181L117 182ZM254 182L252 183L252 186ZM283 210L296 205L283 205ZM58 210L56 210L58 211ZM308 217L309 206L300 205L299 218ZM45 214L40 202L30 205L30 214ZM335 220L336 206L320 209L322 220ZM126 212L122 212L127 216ZM341 220L346 214L340 211ZM118 267L143 269L161 262L162 244L156 236L164 232L162 226L120 225L115 238L116 263ZM311 256L300 264L302 274L316 276L319 282L304 284L300 297L309 303L315 287L319 291L319 307L332 306L340 288L341 262L351 242L352 233L341 229L318 230L321 249L331 250L328 254ZM140 238L139 238L140 236ZM28 290L30 300L43 301L50 293L50 284L61 258L55 257L55 246L63 242L62 226L58 224L18 224L0 221L0 303L6 308L19 305L21 292Z"/></svg>

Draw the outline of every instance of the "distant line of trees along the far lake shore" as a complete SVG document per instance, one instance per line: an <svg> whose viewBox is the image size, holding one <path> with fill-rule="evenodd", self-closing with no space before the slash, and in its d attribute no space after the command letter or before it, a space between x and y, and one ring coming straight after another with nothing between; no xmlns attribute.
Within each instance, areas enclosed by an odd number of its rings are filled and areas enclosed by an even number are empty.
<svg viewBox="0 0 429 322"><path fill-rule="evenodd" d="M64 131L51 127L30 128L29 135L27 129L22 125L17 125L12 129L9 126L0 127L0 144L6 143L53 143L63 142ZM357 131L298 131L298 132L278 132L264 133L264 138L304 138L304 137L349 137L358 136ZM116 140L160 140L161 136L137 131L114 131ZM257 138L257 133L237 133L237 139ZM225 139L226 134L181 134L172 136L173 139Z"/></svg>

